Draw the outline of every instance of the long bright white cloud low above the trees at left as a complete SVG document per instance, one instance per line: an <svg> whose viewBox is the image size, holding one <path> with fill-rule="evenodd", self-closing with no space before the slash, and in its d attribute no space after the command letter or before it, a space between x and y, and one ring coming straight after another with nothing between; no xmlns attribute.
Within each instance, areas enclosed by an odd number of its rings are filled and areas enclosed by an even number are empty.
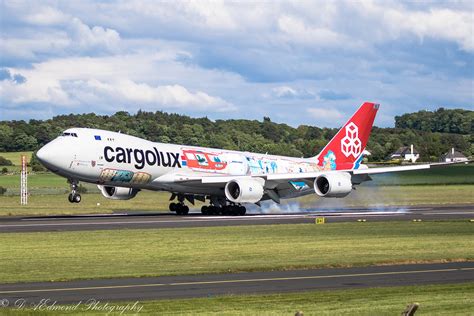
<svg viewBox="0 0 474 316"><path fill-rule="evenodd" d="M131 109L187 109L195 112L234 111L233 104L221 97L182 84L153 84L165 73L156 74L153 64L169 61L172 56L160 54L124 57L65 58L35 64L31 69L7 69L21 73L21 85L0 81L0 99L6 103L51 103L71 109L94 105L113 111L116 105ZM176 72L180 70L175 68ZM153 74L155 74L153 76ZM141 78L141 80L140 80ZM149 82L143 82L143 80Z"/></svg>

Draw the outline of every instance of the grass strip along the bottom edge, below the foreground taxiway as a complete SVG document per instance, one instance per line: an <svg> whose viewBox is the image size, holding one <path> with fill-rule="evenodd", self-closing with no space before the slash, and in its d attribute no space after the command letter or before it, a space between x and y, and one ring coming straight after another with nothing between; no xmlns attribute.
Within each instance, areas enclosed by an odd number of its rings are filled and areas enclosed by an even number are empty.
<svg viewBox="0 0 474 316"><path fill-rule="evenodd" d="M141 301L138 315L400 315L417 302L416 315L472 315L474 283L404 286L271 295L216 296L196 299ZM109 302L111 306L135 302ZM102 306L105 304L102 303ZM89 309L89 310L88 310ZM69 312L40 315L104 315L81 304ZM4 309L3 315L38 315L38 311ZM116 313L119 314L119 313ZM134 313L124 313L134 314Z"/></svg>

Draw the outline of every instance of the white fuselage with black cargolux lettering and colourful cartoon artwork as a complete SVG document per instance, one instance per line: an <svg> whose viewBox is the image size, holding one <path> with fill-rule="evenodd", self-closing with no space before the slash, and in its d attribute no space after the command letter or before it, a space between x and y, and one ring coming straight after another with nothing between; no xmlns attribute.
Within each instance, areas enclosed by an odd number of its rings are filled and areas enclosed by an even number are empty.
<svg viewBox="0 0 474 316"><path fill-rule="evenodd" d="M223 196L212 185L176 179L209 175L264 175L315 172L316 158L302 159L223 149L155 143L99 129L71 128L45 145L38 157L51 171L98 185ZM329 167L328 167L329 168ZM312 193L299 189L291 196ZM295 194L297 193L297 194Z"/></svg>

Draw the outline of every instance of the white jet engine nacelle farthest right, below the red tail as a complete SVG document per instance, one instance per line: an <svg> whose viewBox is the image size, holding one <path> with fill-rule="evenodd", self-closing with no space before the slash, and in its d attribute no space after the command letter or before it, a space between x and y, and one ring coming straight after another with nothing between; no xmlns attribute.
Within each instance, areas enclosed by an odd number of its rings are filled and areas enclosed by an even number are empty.
<svg viewBox="0 0 474 316"><path fill-rule="evenodd" d="M314 181L314 191L324 197L345 197L352 191L351 175L347 172L322 174Z"/></svg>

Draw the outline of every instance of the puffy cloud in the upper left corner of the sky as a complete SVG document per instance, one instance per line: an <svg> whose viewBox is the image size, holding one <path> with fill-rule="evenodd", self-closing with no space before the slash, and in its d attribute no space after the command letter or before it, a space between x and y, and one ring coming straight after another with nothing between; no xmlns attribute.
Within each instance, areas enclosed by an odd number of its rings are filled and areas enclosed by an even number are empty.
<svg viewBox="0 0 474 316"><path fill-rule="evenodd" d="M4 9L4 15L8 15L11 8ZM21 9L25 10L24 15L12 13L18 15L18 34L1 34L2 59L10 65L18 64L18 60L37 62L44 56L101 55L116 52L120 47L120 34L114 29L90 27L80 18L49 6L32 4Z"/></svg>

